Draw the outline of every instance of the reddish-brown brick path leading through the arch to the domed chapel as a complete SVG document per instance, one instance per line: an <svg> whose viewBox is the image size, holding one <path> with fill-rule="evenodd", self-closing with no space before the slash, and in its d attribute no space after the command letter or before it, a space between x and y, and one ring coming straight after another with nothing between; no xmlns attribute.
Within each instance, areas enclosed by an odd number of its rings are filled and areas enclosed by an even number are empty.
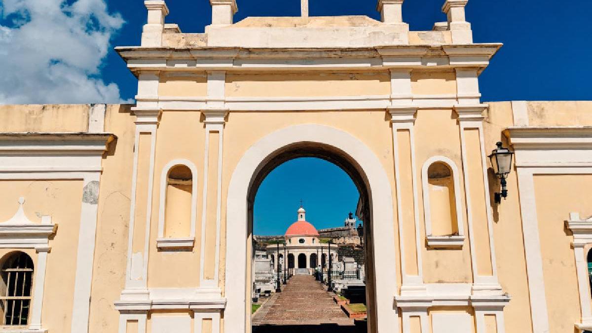
<svg viewBox="0 0 592 333"><path fill-rule="evenodd" d="M292 276L285 289L255 313L253 332L355 332L353 319L326 289L313 276Z"/></svg>

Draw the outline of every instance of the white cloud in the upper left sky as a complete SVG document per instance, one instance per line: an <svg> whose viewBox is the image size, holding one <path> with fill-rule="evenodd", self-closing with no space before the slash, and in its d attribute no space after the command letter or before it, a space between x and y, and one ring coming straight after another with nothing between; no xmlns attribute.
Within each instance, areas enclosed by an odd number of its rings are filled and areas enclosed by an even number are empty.
<svg viewBox="0 0 592 333"><path fill-rule="evenodd" d="M104 0L0 0L0 17L0 104L121 101L100 78L124 23Z"/></svg>

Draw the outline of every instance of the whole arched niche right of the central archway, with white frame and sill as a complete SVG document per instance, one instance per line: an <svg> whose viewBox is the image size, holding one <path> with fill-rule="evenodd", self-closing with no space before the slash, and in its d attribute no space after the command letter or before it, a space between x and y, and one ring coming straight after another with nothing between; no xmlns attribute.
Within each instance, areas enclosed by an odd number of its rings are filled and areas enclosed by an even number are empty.
<svg viewBox="0 0 592 333"><path fill-rule="evenodd" d="M451 159L435 156L422 168L427 245L459 247L464 242L458 169Z"/></svg>

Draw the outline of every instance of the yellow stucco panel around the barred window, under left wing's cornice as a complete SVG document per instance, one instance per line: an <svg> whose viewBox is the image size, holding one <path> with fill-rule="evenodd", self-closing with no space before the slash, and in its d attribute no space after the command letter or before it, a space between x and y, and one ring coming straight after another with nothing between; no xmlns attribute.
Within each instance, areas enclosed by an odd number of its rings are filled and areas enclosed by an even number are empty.
<svg viewBox="0 0 592 333"><path fill-rule="evenodd" d="M24 197L28 219L41 222L52 216L57 232L49 242L41 321L57 332L70 332L78 232L82 206L82 180L0 180L0 221L17 212ZM36 262L34 251L27 251ZM52 309L52 310L50 310Z"/></svg>

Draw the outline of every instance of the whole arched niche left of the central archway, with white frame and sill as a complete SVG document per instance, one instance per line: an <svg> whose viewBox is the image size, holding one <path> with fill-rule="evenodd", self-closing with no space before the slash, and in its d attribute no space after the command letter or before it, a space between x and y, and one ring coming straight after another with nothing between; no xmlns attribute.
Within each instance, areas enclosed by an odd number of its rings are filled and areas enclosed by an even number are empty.
<svg viewBox="0 0 592 333"><path fill-rule="evenodd" d="M156 246L166 249L193 248L197 209L197 168L185 159L176 159L160 176L160 206Z"/></svg>

